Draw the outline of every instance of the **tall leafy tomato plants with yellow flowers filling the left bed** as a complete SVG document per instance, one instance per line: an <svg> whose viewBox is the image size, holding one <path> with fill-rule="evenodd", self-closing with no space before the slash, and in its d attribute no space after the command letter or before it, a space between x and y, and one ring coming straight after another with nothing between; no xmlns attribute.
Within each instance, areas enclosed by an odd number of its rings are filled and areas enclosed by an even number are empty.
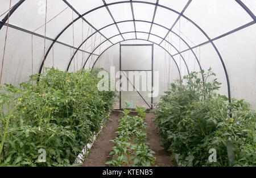
<svg viewBox="0 0 256 178"><path fill-rule="evenodd" d="M1 86L0 165L76 165L114 105L115 92L98 91L97 73L51 68L19 87Z"/></svg>

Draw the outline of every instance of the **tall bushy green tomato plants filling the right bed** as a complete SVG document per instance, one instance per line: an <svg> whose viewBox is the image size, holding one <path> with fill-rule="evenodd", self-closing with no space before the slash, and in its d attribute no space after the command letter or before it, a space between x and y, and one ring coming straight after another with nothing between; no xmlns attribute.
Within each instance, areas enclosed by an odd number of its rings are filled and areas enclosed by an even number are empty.
<svg viewBox="0 0 256 178"><path fill-rule="evenodd" d="M154 110L161 142L181 166L255 166L255 110L217 94L215 76L192 72L171 84Z"/></svg>

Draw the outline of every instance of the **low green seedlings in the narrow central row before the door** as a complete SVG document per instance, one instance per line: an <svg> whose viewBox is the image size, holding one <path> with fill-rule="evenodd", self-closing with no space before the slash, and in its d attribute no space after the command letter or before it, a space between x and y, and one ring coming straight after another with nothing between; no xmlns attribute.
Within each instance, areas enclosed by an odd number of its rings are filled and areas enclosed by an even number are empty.
<svg viewBox="0 0 256 178"><path fill-rule="evenodd" d="M135 166L150 167L155 164L155 158L147 142L146 122L144 121L144 111L146 109L137 107L138 115L131 117L129 110L124 110L125 114L119 119L117 129L118 136L113 140L115 146L112 148L112 159L106 162L113 166Z"/></svg>

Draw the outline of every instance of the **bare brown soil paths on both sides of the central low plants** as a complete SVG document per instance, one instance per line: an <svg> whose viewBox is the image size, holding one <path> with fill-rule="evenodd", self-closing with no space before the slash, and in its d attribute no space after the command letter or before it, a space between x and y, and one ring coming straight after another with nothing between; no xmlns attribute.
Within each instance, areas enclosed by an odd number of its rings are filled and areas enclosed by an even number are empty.
<svg viewBox="0 0 256 178"><path fill-rule="evenodd" d="M117 136L115 130L118 127L118 119L122 117L122 113L114 112L110 117L113 121L109 121L106 123L106 127L104 131L98 135L96 142L94 142L93 147L91 148L90 155L88 159L84 162L82 166L84 167L105 167L108 166L105 164L111 158L109 157L109 153L114 146L113 142L109 142ZM134 115L134 114L131 114ZM147 122L147 137L148 142L150 143L150 149L155 151L156 154L156 165L159 167L171 167L175 164L171 162L170 156L164 150L164 148L159 143L159 135L156 133L155 123L152 122L155 118L154 114L147 113L146 114L146 122Z"/></svg>

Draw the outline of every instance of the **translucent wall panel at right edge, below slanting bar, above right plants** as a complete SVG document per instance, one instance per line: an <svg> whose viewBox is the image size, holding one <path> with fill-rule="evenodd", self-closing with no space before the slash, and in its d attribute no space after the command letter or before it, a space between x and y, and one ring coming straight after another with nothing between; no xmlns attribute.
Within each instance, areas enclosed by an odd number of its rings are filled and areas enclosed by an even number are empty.
<svg viewBox="0 0 256 178"><path fill-rule="evenodd" d="M256 24L214 43L226 64L232 97L256 108Z"/></svg>

